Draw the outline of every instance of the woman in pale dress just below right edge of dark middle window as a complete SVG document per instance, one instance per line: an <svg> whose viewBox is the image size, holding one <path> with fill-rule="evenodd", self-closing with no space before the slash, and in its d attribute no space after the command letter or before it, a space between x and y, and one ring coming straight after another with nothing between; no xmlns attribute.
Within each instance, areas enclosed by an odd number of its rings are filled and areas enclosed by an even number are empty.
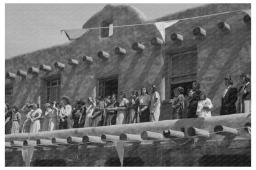
<svg viewBox="0 0 256 170"><path fill-rule="evenodd" d="M126 94L123 91L121 91L118 114L116 115L116 125L122 125L126 122L128 105L129 105L129 100L126 99Z"/></svg>

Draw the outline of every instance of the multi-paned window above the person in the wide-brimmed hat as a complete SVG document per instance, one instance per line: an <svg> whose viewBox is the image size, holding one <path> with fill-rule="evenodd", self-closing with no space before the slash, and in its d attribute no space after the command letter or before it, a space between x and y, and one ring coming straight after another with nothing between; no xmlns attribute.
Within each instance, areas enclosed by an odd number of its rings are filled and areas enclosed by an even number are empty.
<svg viewBox="0 0 256 170"><path fill-rule="evenodd" d="M46 88L46 102L58 102L60 98L60 79L47 81Z"/></svg>

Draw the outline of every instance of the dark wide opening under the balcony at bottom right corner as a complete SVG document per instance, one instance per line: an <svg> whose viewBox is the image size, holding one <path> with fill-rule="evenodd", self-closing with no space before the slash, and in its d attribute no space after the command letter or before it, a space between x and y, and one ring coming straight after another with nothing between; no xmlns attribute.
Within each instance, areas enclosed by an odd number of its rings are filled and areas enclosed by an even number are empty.
<svg viewBox="0 0 256 170"><path fill-rule="evenodd" d="M250 156L237 155L204 155L198 161L199 166L251 166Z"/></svg>

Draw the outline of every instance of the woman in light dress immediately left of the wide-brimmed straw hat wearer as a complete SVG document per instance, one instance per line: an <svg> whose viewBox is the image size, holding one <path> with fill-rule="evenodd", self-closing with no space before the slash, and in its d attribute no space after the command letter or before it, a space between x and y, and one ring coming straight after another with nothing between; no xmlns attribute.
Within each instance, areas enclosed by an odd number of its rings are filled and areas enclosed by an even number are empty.
<svg viewBox="0 0 256 170"><path fill-rule="evenodd" d="M52 109L48 117L50 118L49 120L49 125L48 125L48 131L54 131L57 129L57 121L58 121L58 107L56 107L56 102L50 102L50 108Z"/></svg>

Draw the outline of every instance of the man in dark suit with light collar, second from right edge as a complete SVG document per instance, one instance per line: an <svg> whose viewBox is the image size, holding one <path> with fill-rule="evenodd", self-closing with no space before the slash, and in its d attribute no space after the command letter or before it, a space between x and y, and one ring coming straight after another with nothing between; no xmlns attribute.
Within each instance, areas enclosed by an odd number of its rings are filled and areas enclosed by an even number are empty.
<svg viewBox="0 0 256 170"><path fill-rule="evenodd" d="M225 77L226 90L222 95L222 107L220 108L220 115L236 114L236 101L238 100L238 89L233 87L233 80L231 76Z"/></svg>

